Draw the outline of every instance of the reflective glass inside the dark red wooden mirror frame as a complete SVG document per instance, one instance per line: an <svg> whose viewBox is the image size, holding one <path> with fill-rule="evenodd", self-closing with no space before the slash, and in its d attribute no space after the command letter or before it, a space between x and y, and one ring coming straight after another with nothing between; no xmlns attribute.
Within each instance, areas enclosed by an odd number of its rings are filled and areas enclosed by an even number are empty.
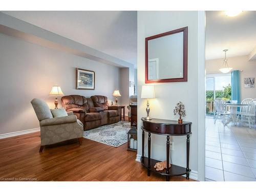
<svg viewBox="0 0 256 192"><path fill-rule="evenodd" d="M148 40L148 79L183 78L183 32Z"/></svg>

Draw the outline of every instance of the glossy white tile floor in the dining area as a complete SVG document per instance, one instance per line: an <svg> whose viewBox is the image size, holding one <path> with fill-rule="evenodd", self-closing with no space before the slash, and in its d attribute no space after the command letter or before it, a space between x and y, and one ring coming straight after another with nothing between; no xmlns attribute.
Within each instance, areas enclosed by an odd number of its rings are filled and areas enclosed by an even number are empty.
<svg viewBox="0 0 256 192"><path fill-rule="evenodd" d="M256 181L256 130L206 118L205 180Z"/></svg>

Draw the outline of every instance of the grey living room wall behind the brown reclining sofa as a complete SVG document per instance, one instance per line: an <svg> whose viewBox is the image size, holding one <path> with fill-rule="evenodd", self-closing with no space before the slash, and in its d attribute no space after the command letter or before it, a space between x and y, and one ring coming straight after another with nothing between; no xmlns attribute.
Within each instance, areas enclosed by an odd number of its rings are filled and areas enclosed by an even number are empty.
<svg viewBox="0 0 256 192"><path fill-rule="evenodd" d="M76 90L76 68L95 71L95 90ZM119 89L119 68L41 47L0 33L0 135L39 127L30 101L48 96L58 84L65 95L105 95ZM61 107L59 97L59 108Z"/></svg>

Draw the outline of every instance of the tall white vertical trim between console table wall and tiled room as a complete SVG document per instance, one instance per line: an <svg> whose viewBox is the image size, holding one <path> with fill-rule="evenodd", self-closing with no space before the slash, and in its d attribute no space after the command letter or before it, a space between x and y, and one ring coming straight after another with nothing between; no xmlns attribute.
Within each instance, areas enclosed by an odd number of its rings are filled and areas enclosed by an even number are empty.
<svg viewBox="0 0 256 192"><path fill-rule="evenodd" d="M205 157L205 11L198 11L198 173L192 177L204 181ZM192 178L191 177L191 178Z"/></svg>

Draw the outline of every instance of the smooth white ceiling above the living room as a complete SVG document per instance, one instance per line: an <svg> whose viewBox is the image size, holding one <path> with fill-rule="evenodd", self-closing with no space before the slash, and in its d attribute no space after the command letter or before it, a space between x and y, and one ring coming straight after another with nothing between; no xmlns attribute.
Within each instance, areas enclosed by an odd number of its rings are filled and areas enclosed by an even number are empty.
<svg viewBox="0 0 256 192"><path fill-rule="evenodd" d="M136 66L136 11L3 12Z"/></svg>

